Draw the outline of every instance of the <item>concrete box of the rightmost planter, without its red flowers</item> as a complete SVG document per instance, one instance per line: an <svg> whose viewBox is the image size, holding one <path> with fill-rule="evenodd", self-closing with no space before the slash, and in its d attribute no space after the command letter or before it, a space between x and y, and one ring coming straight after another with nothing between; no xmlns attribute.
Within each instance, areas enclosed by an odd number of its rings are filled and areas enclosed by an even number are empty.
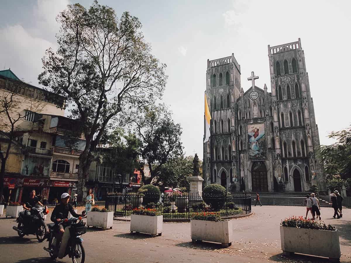
<svg viewBox="0 0 351 263"><path fill-rule="evenodd" d="M316 230L280 226L280 241L286 255L302 253L340 260L338 230Z"/></svg>

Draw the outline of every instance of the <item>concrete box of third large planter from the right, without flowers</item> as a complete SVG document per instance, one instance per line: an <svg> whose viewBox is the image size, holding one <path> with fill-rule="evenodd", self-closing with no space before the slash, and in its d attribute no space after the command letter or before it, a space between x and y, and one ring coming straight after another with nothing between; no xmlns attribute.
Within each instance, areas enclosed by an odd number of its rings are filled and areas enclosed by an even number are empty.
<svg viewBox="0 0 351 263"><path fill-rule="evenodd" d="M162 234L163 216L144 216L131 214L131 234L141 232L153 237Z"/></svg>

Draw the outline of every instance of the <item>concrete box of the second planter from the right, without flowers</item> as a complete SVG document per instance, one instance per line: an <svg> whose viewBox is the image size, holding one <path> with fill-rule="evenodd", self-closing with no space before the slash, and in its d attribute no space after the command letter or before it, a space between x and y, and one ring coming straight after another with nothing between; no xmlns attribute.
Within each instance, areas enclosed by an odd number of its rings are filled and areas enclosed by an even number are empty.
<svg viewBox="0 0 351 263"><path fill-rule="evenodd" d="M210 241L229 247L233 241L233 221L214 222L206 220L191 220L192 242Z"/></svg>

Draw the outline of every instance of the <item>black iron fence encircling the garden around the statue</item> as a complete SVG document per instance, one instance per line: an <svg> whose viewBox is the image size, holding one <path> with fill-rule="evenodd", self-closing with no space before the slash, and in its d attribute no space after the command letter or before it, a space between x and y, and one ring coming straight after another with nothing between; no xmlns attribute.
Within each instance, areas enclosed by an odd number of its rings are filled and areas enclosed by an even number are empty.
<svg viewBox="0 0 351 263"><path fill-rule="evenodd" d="M106 196L105 207L114 211L115 217L121 218L129 218L135 208L156 209L164 219L190 219L194 213L203 212L216 212L225 218L251 213L251 195L114 193Z"/></svg>

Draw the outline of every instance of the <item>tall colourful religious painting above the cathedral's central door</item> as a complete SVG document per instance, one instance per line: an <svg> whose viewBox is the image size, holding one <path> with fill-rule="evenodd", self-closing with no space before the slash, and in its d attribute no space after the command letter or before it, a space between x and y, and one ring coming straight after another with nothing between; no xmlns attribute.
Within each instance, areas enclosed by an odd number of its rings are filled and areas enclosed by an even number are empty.
<svg viewBox="0 0 351 263"><path fill-rule="evenodd" d="M264 122L247 124L247 160L268 160L266 126Z"/></svg>

